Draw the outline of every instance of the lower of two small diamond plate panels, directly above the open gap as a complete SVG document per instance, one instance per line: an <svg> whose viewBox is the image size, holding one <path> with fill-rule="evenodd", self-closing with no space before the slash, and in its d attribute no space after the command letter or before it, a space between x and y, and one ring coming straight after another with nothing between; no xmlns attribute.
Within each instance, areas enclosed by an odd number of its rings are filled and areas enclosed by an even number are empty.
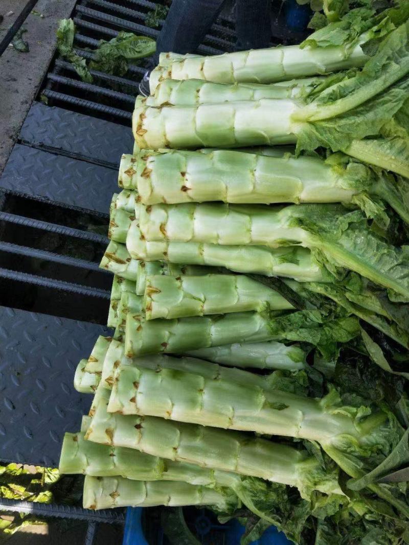
<svg viewBox="0 0 409 545"><path fill-rule="evenodd" d="M70 207L108 214L118 190L116 169L16 144L0 187Z"/></svg>

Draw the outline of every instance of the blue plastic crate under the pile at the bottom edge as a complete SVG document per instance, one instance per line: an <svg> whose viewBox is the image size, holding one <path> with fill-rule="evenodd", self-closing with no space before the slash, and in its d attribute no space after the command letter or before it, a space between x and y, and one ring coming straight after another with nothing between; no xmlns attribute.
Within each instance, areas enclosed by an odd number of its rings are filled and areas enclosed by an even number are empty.
<svg viewBox="0 0 409 545"><path fill-rule="evenodd" d="M220 530L224 534L225 545L239 545L240 537L244 533L244 528L237 520L233 520L228 524L215 525L212 520L206 516L206 510L198 511L198 517L195 522L196 528L200 536L206 536L213 530ZM160 532L159 532L160 533ZM148 543L142 530L142 507L128 507L127 517L125 520L123 545L162 545L159 538L158 543ZM270 526L262 537L253 541L252 545L291 545L292 542L287 540L282 532L279 532L275 526Z"/></svg>

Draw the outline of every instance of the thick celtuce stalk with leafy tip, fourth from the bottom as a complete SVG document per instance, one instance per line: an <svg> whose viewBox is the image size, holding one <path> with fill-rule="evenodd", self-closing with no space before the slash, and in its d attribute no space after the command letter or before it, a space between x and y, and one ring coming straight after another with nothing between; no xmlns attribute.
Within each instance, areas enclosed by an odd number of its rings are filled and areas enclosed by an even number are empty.
<svg viewBox="0 0 409 545"><path fill-rule="evenodd" d="M121 380L122 373L125 377ZM129 393L134 396L129 397ZM362 407L351 409L342 407L335 390L318 400L182 371L140 369L138 373L135 367L121 368L107 407L108 411L160 414L204 426L317 441L342 470L357 477L364 474L365 464L373 469L371 453L393 448L403 430L396 428L393 417L382 410L366 413L370 416L361 419ZM389 490L378 485L370 489L408 516L407 505Z"/></svg>

